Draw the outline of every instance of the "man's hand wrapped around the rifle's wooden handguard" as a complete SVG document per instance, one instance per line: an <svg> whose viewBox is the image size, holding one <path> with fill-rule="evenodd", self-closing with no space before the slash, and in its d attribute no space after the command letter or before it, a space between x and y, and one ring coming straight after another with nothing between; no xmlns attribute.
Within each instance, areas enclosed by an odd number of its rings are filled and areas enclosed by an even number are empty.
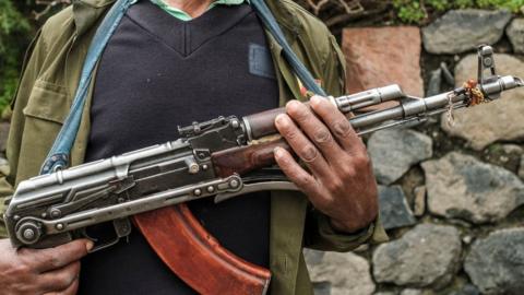
<svg viewBox="0 0 524 295"><path fill-rule="evenodd" d="M354 233L369 225L379 211L377 181L366 146L346 117L327 99L313 96L310 106L286 105L275 119L278 132L303 161L277 148L275 161L333 227Z"/></svg>

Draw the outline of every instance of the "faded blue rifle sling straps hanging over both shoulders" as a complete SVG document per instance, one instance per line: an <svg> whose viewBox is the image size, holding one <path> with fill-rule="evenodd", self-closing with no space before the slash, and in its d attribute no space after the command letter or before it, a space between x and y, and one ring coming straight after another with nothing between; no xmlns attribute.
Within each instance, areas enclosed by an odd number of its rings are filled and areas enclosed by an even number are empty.
<svg viewBox="0 0 524 295"><path fill-rule="evenodd" d="M76 88L71 110L66 118L62 129L58 133L57 139L55 140L55 143L46 157L46 161L41 166L40 175L50 174L57 169L69 167L71 150L80 129L82 113L87 99L88 90L93 81L96 64L127 10L138 1L139 0L117 0L107 15L104 17L102 24L98 26L84 61L79 87ZM289 62L295 71L295 74L300 79L303 85L315 94L326 96L322 87L317 84L311 73L293 51L291 47L287 43L286 37L284 36L284 33L282 32L278 23L276 22L273 13L267 8L264 0L250 0L250 3L261 17L262 23L269 30L270 34L282 46L284 57Z"/></svg>

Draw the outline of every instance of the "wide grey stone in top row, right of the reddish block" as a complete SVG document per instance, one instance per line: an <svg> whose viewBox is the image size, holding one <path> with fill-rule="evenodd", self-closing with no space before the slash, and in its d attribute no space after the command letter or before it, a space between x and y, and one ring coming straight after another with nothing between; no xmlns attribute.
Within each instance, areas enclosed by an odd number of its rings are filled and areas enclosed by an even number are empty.
<svg viewBox="0 0 524 295"><path fill-rule="evenodd" d="M511 20L509 11L452 10L422 28L424 47L431 54L462 54L479 44L495 44Z"/></svg>

